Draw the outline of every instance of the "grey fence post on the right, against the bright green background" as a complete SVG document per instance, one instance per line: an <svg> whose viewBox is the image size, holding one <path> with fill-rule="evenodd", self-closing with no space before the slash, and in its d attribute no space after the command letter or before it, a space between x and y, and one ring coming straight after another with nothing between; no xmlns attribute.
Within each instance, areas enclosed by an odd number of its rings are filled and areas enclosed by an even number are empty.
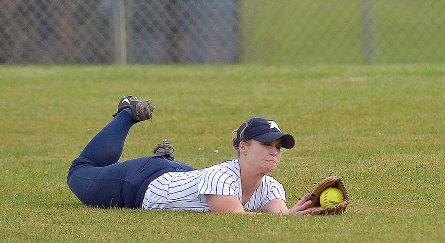
<svg viewBox="0 0 445 243"><path fill-rule="evenodd" d="M374 28L372 20L372 0L363 0L363 47L366 63L375 62Z"/></svg>

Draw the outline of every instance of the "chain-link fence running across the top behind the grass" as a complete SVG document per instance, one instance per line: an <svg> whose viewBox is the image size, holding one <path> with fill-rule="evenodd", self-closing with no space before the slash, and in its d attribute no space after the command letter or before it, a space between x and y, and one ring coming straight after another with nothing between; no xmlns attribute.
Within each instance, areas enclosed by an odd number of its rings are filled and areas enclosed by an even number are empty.
<svg viewBox="0 0 445 243"><path fill-rule="evenodd" d="M0 0L0 63L445 61L444 0Z"/></svg>

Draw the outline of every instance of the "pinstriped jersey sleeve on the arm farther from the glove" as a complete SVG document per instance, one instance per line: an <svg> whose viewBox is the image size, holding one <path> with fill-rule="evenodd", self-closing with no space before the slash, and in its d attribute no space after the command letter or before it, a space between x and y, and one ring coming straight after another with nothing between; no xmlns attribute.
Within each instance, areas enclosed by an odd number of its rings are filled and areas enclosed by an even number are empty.
<svg viewBox="0 0 445 243"><path fill-rule="evenodd" d="M208 170L198 182L198 196L228 195L237 197L237 177L228 170Z"/></svg>

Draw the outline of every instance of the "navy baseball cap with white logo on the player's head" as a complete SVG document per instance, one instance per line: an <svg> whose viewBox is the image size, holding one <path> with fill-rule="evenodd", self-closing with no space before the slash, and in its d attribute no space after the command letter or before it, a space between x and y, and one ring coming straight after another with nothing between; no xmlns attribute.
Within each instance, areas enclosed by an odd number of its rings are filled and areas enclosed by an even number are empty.
<svg viewBox="0 0 445 243"><path fill-rule="evenodd" d="M272 142L281 138L281 147L291 149L295 146L292 135L282 133L277 122L261 117L254 117L244 121L237 130L237 144L254 139L260 142Z"/></svg>

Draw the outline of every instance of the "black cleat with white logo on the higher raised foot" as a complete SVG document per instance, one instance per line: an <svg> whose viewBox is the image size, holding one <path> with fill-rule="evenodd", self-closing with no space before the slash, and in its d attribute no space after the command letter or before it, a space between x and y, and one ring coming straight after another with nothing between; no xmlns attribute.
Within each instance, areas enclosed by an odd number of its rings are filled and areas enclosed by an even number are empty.
<svg viewBox="0 0 445 243"><path fill-rule="evenodd" d="M113 114L115 117L119 112L125 108L130 108L133 114L133 119L136 123L151 119L153 114L154 105L151 105L148 101L140 101L136 96L127 96L120 100L117 105L117 112Z"/></svg>

